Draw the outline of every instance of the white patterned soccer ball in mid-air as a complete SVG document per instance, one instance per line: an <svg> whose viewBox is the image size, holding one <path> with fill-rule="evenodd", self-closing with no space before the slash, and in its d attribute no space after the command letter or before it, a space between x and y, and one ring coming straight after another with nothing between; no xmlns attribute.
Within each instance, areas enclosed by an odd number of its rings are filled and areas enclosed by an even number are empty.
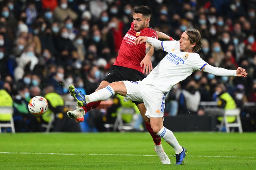
<svg viewBox="0 0 256 170"><path fill-rule="evenodd" d="M42 116L48 109L48 102L42 96L36 96L30 99L28 110L35 116Z"/></svg>

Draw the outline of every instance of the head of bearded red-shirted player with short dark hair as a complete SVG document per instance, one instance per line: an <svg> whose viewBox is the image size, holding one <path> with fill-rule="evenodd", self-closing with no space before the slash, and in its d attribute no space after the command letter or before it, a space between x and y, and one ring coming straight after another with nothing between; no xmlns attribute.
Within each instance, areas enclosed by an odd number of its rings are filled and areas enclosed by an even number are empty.
<svg viewBox="0 0 256 170"><path fill-rule="evenodd" d="M140 31L149 26L151 10L147 6L135 7L133 10L133 24L135 31Z"/></svg>

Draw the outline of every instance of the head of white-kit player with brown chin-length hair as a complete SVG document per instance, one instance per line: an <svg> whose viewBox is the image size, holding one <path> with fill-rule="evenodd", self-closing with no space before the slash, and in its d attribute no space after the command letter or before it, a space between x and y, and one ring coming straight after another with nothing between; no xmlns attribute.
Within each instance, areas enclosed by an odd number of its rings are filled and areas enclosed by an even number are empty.
<svg viewBox="0 0 256 170"><path fill-rule="evenodd" d="M202 46L202 37L197 29L187 29L180 40L180 51L198 52Z"/></svg>

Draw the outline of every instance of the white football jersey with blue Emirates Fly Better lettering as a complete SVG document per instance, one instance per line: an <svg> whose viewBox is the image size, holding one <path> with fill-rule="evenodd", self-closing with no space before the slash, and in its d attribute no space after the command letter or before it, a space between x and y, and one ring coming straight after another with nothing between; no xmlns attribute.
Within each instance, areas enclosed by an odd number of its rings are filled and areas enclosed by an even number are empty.
<svg viewBox="0 0 256 170"><path fill-rule="evenodd" d="M197 53L181 52L178 41L162 41L161 45L168 54L142 82L163 92L169 92L176 83L208 64Z"/></svg>

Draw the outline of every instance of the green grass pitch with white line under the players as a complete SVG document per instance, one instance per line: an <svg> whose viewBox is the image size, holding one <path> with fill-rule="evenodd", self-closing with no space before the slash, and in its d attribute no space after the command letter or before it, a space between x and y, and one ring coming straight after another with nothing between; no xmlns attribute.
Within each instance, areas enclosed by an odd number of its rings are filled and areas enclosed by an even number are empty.
<svg viewBox="0 0 256 170"><path fill-rule="evenodd" d="M174 150L163 139L171 165L161 164L148 133L3 133L0 169L256 169L255 133L175 133L175 136L189 152L185 165L174 164Z"/></svg>

